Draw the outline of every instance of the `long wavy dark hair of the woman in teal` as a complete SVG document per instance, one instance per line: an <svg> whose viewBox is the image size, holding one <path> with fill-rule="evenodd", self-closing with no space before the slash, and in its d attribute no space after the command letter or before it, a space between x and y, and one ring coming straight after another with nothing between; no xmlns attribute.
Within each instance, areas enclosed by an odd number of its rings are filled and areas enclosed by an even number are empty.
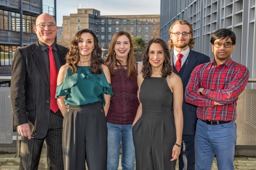
<svg viewBox="0 0 256 170"><path fill-rule="evenodd" d="M80 61L78 42L80 41L80 37L83 33L89 33L93 37L94 49L92 50L91 56L91 73L101 74L103 72L101 64L105 64L101 57L102 49L98 45L96 35L90 29L82 29L78 31L73 38L70 44L70 49L66 55L66 63L69 65L68 68L72 71L72 73L77 72L77 63Z"/></svg>

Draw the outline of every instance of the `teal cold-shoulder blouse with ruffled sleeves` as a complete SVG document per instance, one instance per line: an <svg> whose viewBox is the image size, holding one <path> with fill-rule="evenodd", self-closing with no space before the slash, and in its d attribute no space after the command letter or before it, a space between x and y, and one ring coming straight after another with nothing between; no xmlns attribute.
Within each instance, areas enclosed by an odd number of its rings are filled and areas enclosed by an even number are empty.
<svg viewBox="0 0 256 170"><path fill-rule="evenodd" d="M104 94L114 96L111 84L105 74L92 74L90 66L77 66L77 73L67 70L64 81L57 86L56 98L65 96L66 105L86 105L102 102L105 106Z"/></svg>

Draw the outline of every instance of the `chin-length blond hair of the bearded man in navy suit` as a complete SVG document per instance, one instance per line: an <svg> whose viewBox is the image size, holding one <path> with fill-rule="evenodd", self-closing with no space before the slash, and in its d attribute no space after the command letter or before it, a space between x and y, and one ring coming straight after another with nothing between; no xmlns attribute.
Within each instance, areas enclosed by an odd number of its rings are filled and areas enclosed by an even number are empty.
<svg viewBox="0 0 256 170"><path fill-rule="evenodd" d="M191 38L189 40L189 48L190 49L193 49L193 45L195 44L195 40L193 38L193 28L192 26L190 25L190 23L186 20L176 20L170 27L169 29L169 35L171 35L171 33L173 32L173 27L174 25L176 24L180 24L180 25L188 25L189 26L189 33L191 34ZM174 44L173 44L173 40L170 38L169 41L169 49L170 50L173 50L174 49Z"/></svg>

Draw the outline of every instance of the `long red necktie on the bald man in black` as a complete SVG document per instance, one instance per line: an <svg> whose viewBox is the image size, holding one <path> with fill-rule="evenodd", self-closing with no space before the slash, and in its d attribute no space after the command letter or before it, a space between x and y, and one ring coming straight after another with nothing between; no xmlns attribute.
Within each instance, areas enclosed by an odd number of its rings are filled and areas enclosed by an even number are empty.
<svg viewBox="0 0 256 170"><path fill-rule="evenodd" d="M58 111L57 100L55 99L56 87L57 87L57 76L58 71L55 65L55 60L52 53L52 47L49 48L49 59L50 59L50 109L53 112Z"/></svg>

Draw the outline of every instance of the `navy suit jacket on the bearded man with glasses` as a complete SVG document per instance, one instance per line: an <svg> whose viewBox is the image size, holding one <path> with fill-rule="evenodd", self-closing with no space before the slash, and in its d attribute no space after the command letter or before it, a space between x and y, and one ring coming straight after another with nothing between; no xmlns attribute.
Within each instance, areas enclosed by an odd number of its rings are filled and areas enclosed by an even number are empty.
<svg viewBox="0 0 256 170"><path fill-rule="evenodd" d="M190 52L188 55L188 62L185 66L184 73L181 76L181 81L183 83L183 95L185 94L186 85L189 82L190 75L194 70L194 68L200 64L207 63L207 62L210 62L209 56L190 49ZM174 68L173 51L171 51L171 64ZM184 117L183 118L184 119L183 135L194 135L196 120L197 120L196 106L188 104L187 102L185 102L185 99L183 99L183 117Z"/></svg>

